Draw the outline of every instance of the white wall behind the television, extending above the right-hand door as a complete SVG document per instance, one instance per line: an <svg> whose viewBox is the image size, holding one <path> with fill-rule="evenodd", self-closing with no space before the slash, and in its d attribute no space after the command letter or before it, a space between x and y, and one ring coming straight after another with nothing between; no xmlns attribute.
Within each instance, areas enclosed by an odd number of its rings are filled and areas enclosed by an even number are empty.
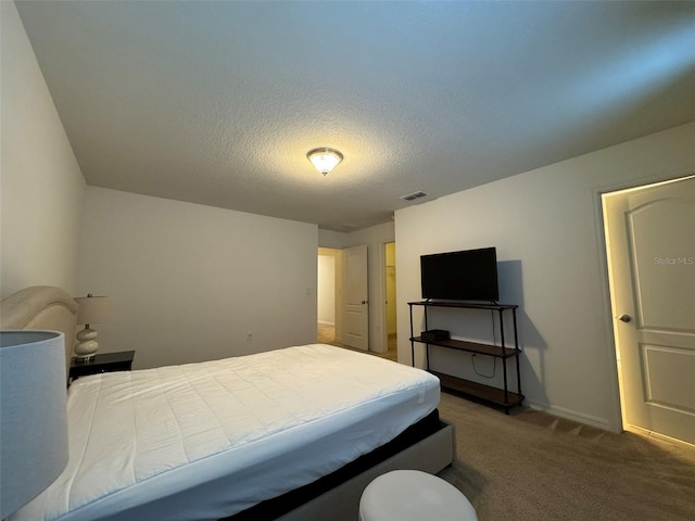
<svg viewBox="0 0 695 521"><path fill-rule="evenodd" d="M396 212L399 360L410 363L419 255L494 245L501 301L520 305L527 403L619 430L599 192L692 173L695 123ZM434 327L466 333L456 316ZM445 353L432 365L466 376L463 359Z"/></svg>

